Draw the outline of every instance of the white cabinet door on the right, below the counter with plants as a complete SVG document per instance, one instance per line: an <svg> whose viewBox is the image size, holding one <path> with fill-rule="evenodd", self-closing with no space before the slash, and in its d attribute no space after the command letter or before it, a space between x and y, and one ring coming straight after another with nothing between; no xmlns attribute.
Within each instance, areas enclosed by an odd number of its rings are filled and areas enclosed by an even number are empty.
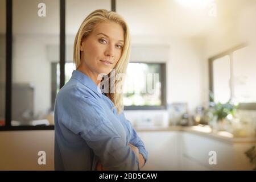
<svg viewBox="0 0 256 182"><path fill-rule="evenodd" d="M234 169L234 148L232 143L184 132L180 137L180 150L182 155L188 156L188 159L192 159L197 164L209 169ZM216 152L217 164L209 164L210 151Z"/></svg>

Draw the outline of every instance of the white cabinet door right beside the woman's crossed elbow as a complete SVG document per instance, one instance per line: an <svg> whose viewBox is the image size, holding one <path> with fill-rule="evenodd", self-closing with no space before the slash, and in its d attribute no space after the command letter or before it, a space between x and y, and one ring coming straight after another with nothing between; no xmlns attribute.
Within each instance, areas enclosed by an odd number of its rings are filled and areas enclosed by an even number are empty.
<svg viewBox="0 0 256 182"><path fill-rule="evenodd" d="M148 151L142 170L178 170L178 131L138 132Z"/></svg>

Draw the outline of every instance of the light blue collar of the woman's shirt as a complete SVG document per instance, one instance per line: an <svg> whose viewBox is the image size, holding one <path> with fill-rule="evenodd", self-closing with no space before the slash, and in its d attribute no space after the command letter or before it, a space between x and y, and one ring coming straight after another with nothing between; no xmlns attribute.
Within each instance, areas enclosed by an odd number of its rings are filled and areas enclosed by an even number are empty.
<svg viewBox="0 0 256 182"><path fill-rule="evenodd" d="M78 70L74 70L72 72L71 78L76 78L83 85L87 86L90 90L95 92L98 96L100 96L100 97L102 96L102 92L101 92L100 88L98 88L98 86L92 81L92 79L90 77L88 77L87 75L85 75L84 73L82 73Z"/></svg>

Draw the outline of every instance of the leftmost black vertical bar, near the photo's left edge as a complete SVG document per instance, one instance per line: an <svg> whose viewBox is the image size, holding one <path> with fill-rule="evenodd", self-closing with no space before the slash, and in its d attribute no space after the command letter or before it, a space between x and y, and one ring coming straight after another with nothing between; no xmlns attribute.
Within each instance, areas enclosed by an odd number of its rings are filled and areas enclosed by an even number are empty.
<svg viewBox="0 0 256 182"><path fill-rule="evenodd" d="M13 1L6 0L6 93L5 127L11 126L11 66L13 53Z"/></svg>

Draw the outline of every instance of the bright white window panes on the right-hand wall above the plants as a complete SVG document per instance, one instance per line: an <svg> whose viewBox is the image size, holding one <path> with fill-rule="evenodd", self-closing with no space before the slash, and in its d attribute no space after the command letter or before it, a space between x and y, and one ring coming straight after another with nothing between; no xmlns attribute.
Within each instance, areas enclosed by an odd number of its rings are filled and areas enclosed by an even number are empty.
<svg viewBox="0 0 256 182"><path fill-rule="evenodd" d="M214 101L238 102L240 109L256 109L255 47L242 45L209 59L210 90Z"/></svg>

